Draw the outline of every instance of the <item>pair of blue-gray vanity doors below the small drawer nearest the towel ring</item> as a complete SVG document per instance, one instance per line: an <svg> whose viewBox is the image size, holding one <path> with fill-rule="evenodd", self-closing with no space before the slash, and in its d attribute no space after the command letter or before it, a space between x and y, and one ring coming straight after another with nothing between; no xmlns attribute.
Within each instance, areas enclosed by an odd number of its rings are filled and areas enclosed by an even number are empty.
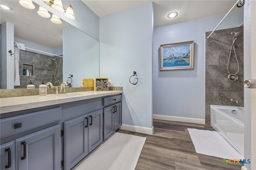
<svg viewBox="0 0 256 170"><path fill-rule="evenodd" d="M104 140L122 125L121 102L104 108Z"/></svg>

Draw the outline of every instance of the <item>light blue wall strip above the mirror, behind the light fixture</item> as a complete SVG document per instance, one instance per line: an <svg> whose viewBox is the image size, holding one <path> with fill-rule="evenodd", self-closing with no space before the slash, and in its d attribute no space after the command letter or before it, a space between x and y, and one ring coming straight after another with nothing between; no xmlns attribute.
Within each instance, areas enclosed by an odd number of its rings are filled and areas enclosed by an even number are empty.
<svg viewBox="0 0 256 170"><path fill-rule="evenodd" d="M44 7L48 11L59 16L62 20L70 23L74 27L80 29L84 33L90 35L99 41L99 17L88 8L81 0L62 0L62 6L66 9L69 4L74 10L75 20L69 20L64 16L64 12L57 12L50 8L41 0L33 0L36 4Z"/></svg>

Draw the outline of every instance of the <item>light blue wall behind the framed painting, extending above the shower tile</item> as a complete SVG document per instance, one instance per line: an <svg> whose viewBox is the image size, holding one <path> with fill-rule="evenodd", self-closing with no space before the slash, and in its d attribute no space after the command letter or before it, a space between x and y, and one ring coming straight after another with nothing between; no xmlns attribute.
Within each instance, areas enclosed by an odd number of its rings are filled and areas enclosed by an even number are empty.
<svg viewBox="0 0 256 170"><path fill-rule="evenodd" d="M154 28L153 114L204 119L205 32L212 31L223 17L216 16ZM218 29L238 27L243 20L243 12L229 14ZM160 45L192 40L194 69L160 71Z"/></svg>

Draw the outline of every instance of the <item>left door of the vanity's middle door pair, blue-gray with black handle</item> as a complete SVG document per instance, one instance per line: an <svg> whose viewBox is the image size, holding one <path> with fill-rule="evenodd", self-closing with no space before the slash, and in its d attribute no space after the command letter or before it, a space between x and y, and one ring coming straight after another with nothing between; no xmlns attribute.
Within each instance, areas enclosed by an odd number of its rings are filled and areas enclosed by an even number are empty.
<svg viewBox="0 0 256 170"><path fill-rule="evenodd" d="M64 163L71 169L88 154L88 115L64 122Z"/></svg>

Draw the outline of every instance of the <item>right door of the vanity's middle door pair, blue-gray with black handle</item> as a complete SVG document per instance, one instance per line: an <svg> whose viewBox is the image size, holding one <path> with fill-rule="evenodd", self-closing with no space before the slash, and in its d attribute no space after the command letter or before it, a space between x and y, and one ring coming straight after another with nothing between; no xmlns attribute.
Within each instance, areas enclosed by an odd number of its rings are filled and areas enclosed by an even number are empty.
<svg viewBox="0 0 256 170"><path fill-rule="evenodd" d="M103 110L97 110L89 116L89 152L94 150L103 141Z"/></svg>

